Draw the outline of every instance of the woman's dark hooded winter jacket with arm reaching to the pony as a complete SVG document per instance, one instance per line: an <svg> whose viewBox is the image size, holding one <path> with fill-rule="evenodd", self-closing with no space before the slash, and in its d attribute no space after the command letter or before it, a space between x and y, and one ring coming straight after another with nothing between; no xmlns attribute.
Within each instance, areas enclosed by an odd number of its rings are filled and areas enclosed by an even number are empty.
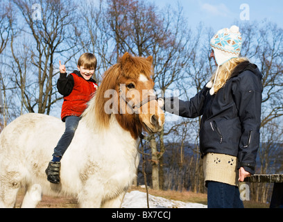
<svg viewBox="0 0 283 222"><path fill-rule="evenodd" d="M164 110L200 122L200 152L238 157L238 169L255 173L261 123L261 73L256 65L241 62L214 95L203 89L189 101L164 99Z"/></svg>

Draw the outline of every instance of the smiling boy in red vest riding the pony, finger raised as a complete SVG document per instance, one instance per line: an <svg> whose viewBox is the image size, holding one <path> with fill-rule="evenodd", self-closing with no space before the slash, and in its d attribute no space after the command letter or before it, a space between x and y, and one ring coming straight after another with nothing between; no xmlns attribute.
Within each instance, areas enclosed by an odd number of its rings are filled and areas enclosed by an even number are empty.
<svg viewBox="0 0 283 222"><path fill-rule="evenodd" d="M96 69L96 57L92 53L83 53L78 59L78 71L67 76L65 65L60 64L60 78L57 82L58 92L64 96L61 119L65 122L65 133L54 148L53 159L46 169L47 180L60 182L60 160L71 144L80 115L87 108L87 102L92 98L98 85L92 78Z"/></svg>

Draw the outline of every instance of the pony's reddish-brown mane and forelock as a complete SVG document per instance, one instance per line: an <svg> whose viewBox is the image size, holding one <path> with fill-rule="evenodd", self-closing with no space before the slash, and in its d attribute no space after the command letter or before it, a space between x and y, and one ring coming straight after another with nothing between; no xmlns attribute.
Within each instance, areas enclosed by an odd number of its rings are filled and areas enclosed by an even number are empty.
<svg viewBox="0 0 283 222"><path fill-rule="evenodd" d="M119 58L117 64L105 71L101 85L89 101L87 109L83 112L83 118L87 125L98 130L107 129L111 114L105 112L105 103L110 99L108 96L105 98L105 92L108 89L117 90L118 86L123 84L122 80L125 80L125 78L137 79L139 74L151 78L153 74L152 57L151 60L148 60L148 58L132 57L125 53L123 57Z"/></svg>

